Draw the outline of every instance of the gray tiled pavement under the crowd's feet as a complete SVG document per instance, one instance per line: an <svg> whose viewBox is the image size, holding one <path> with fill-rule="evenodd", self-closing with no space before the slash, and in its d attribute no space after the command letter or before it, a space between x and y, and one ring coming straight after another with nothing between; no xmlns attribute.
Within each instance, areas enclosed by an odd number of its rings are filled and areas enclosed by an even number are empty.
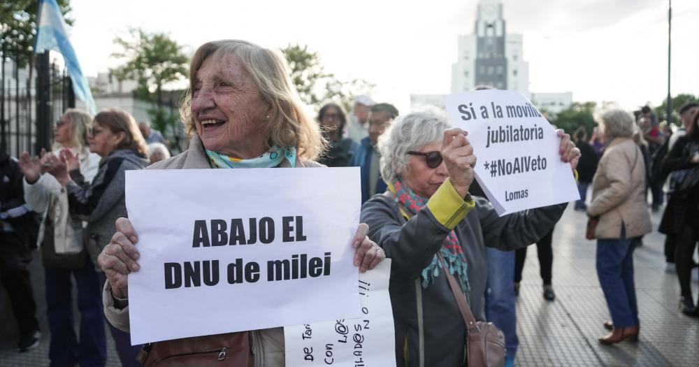
<svg viewBox="0 0 699 367"><path fill-rule="evenodd" d="M660 214L654 214L654 229L659 221ZM605 333L602 323L610 316L597 280L595 243L584 239L585 224L584 213L569 206L554 231L554 302L542 298L536 249L529 250L517 303L517 366L699 366L699 319L677 310L679 285L675 274L664 271L664 237L658 233L646 236L635 252L640 341L598 343L597 337ZM41 294L43 271L34 265L35 293ZM696 294L697 283L692 285ZM39 313L45 315L45 305L40 305ZM7 332L3 329L4 325L0 334ZM12 345L1 349L0 366L48 366L45 322L43 330L36 350L20 354ZM119 366L111 338L107 339L108 366Z"/></svg>

